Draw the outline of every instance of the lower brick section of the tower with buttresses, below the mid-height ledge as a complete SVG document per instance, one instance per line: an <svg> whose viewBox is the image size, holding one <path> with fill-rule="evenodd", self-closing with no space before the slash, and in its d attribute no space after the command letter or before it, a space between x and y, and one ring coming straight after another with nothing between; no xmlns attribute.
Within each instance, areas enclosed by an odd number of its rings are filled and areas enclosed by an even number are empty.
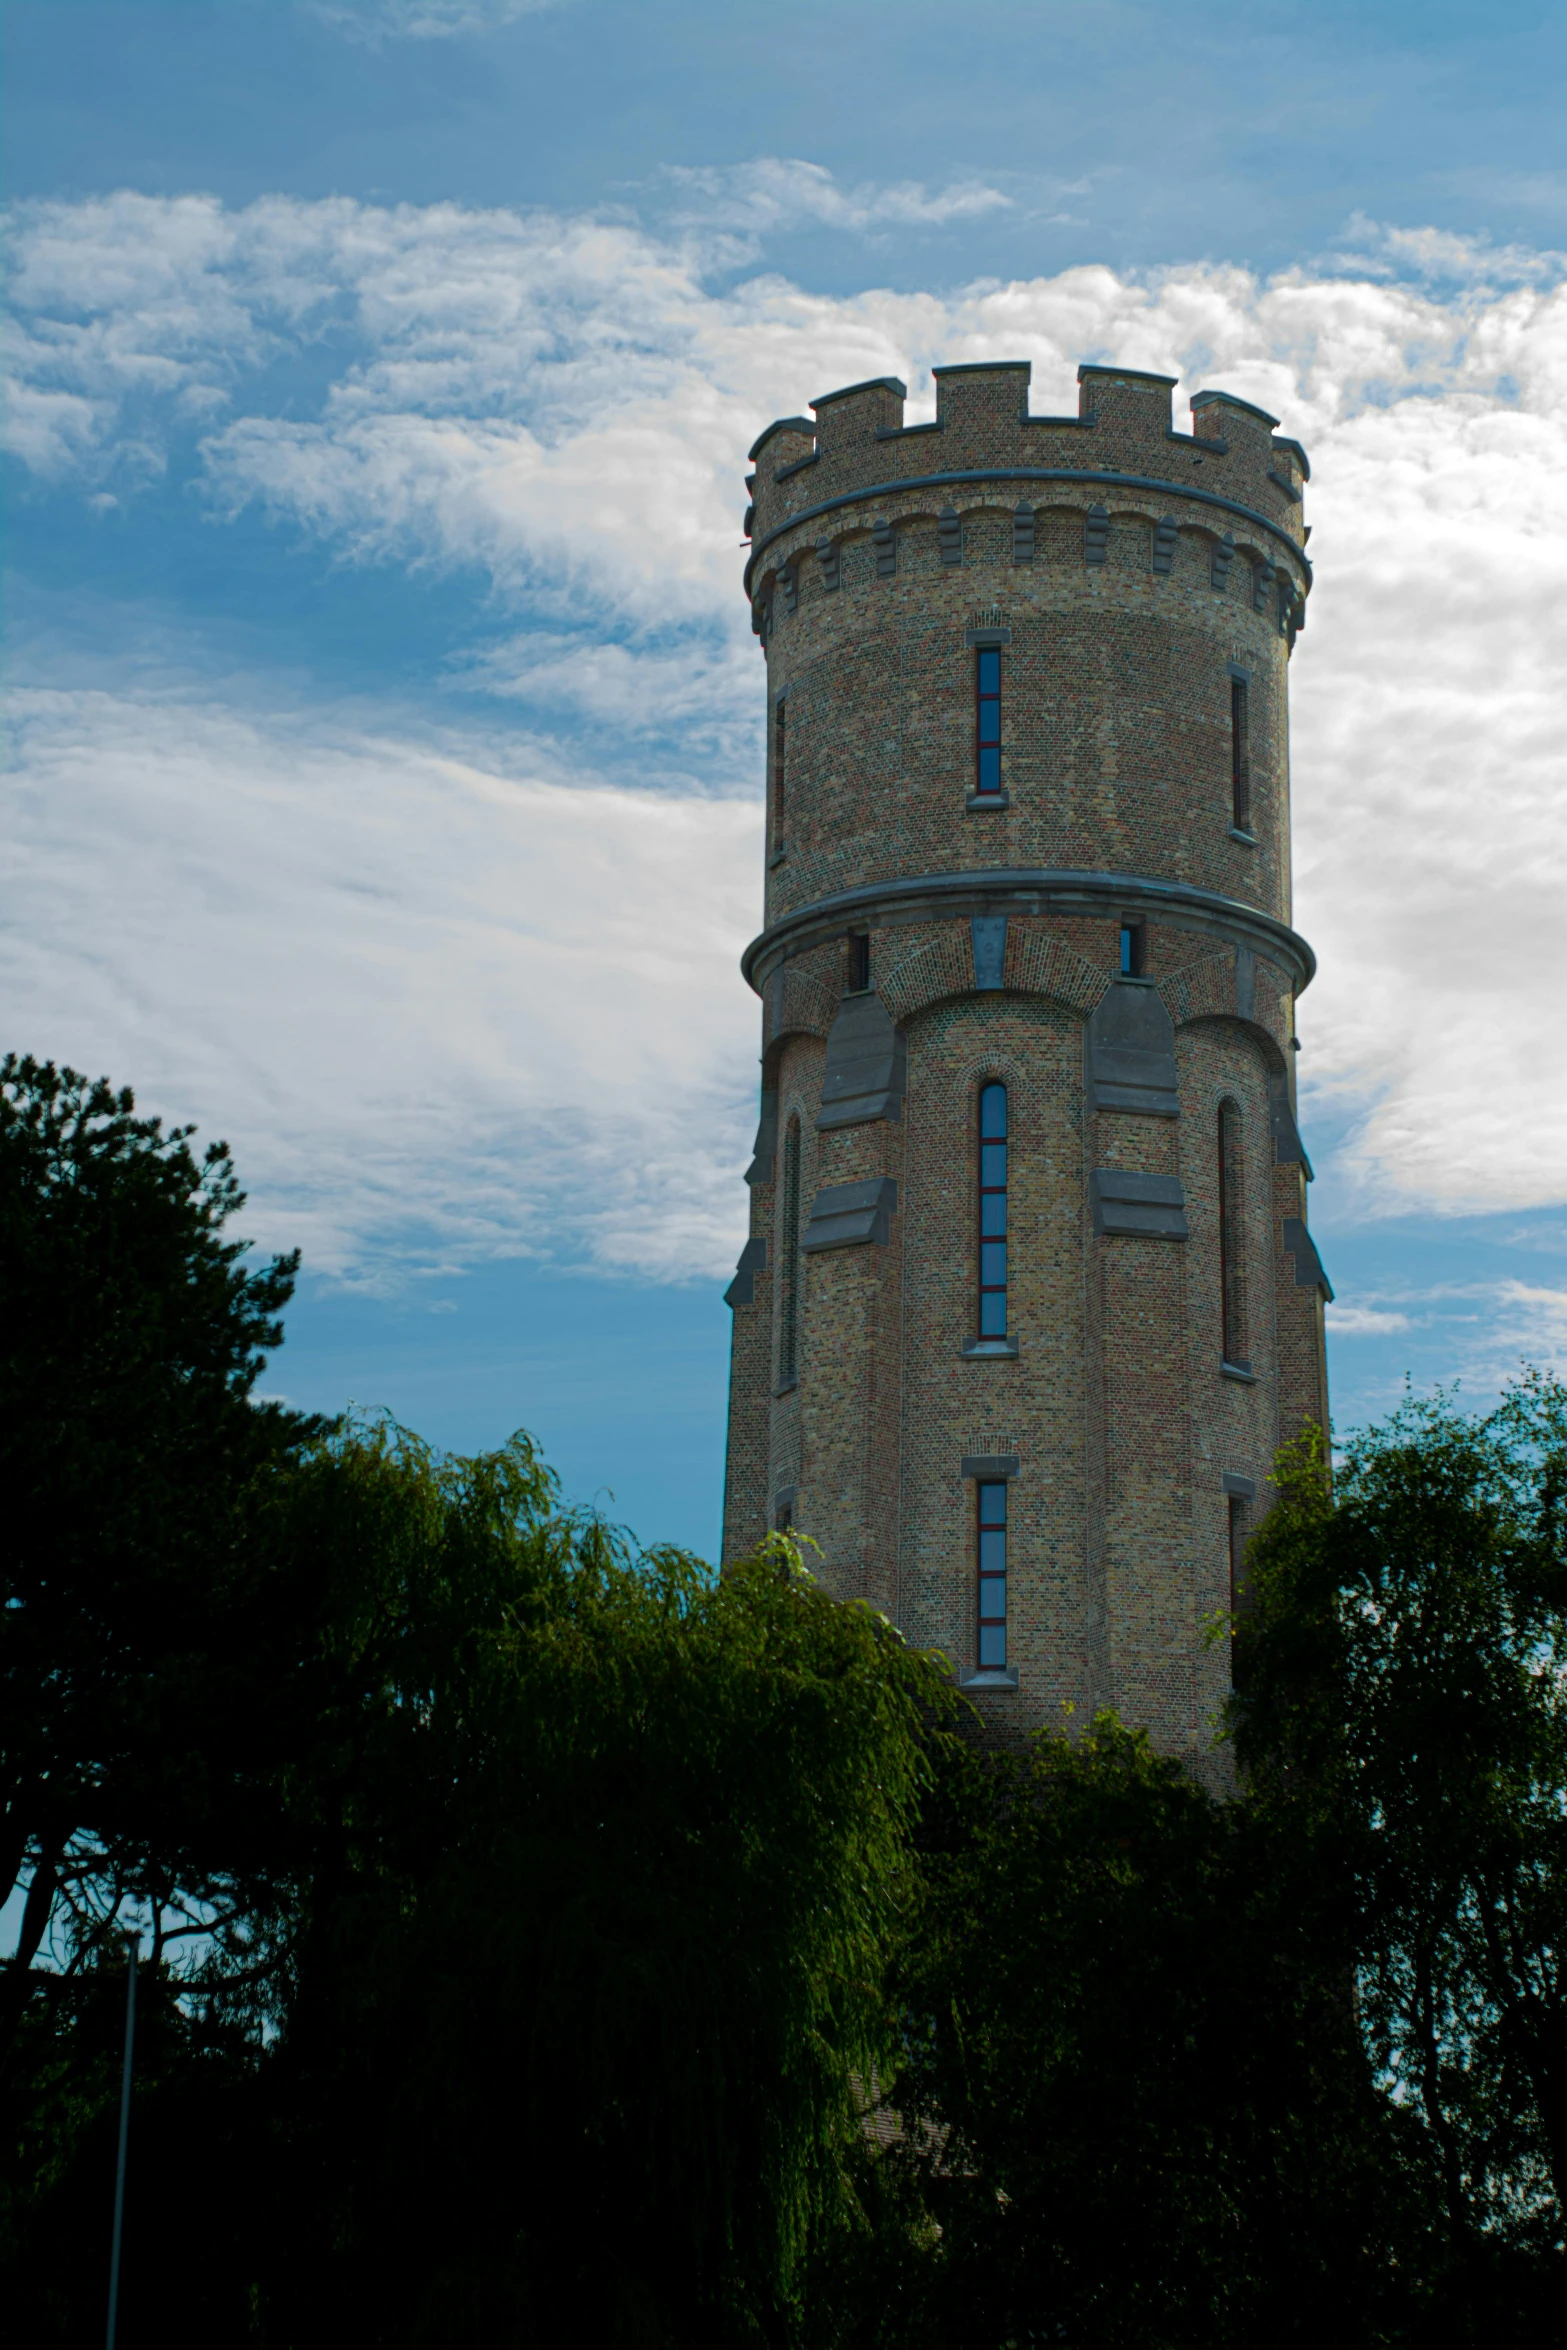
<svg viewBox="0 0 1567 2350"><path fill-rule="evenodd" d="M1327 1403L1292 1104L1311 956L1132 877L959 895L754 949L724 1553L811 1537L998 1730L1111 1704L1203 1751L1210 1626L1276 1448Z"/></svg>

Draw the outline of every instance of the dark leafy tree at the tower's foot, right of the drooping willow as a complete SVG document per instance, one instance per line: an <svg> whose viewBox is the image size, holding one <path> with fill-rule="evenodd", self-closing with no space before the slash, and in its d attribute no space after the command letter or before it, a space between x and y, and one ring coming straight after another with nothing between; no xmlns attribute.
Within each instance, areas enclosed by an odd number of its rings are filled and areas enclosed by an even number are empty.
<svg viewBox="0 0 1567 2350"><path fill-rule="evenodd" d="M923 2331L855 2338L1381 2341L1398 2178L1334 1920L1271 1821L1114 1716L954 1751L937 1821L890 2167L942 2235Z"/></svg>

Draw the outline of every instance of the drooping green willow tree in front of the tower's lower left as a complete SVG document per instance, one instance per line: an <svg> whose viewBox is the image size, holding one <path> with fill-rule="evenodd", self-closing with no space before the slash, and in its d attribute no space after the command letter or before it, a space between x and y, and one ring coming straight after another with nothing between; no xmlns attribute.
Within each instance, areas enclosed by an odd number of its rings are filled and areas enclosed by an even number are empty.
<svg viewBox="0 0 1567 2350"><path fill-rule="evenodd" d="M796 2338L940 1676L787 1544L717 1582L554 1513L522 1438L352 1426L275 1499L364 1690L301 1791L277 2338Z"/></svg>

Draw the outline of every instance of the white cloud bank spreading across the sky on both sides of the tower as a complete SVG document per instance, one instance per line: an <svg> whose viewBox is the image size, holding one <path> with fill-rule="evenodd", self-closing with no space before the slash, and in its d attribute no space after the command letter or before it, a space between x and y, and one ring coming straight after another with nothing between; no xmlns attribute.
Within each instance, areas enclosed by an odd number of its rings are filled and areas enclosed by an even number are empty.
<svg viewBox="0 0 1567 2350"><path fill-rule="evenodd" d="M902 374L930 414L935 362L1029 357L1036 409L1060 409L1078 360L1114 357L1177 374L1177 402L1205 383L1259 402L1313 458L1292 679L1297 921L1320 954L1304 1081L1351 1123L1363 1210L1567 1198L1560 256L1363 223L1360 254L1271 280L1076 268L825 296L735 263L789 207L869 233L1001 202L761 162L684 174L660 221L23 209L7 414L28 475L129 512L179 482L218 531L265 512L343 562L477 578L484 627L453 679L515 717L517 752L496 776L491 747L437 752L385 719L242 719L216 684L113 710L45 691L14 776L21 1032L101 1034L73 1046L92 1067L153 1055L204 1119L242 1097L256 1135L289 1137L268 1198L334 1262L418 1201L465 1246L712 1269L742 1213L754 1067L733 978L759 905L745 449L862 376ZM559 985L585 952L585 844L620 956L594 1020ZM127 860L136 921L115 912ZM359 870L376 881L355 895ZM235 924L254 952L214 987ZM268 935L294 961L282 994ZM639 956L648 982L618 992ZM381 1104L369 1126L334 1123L350 1097ZM442 1133L477 1137L482 1210ZM641 1189L616 1198L630 1163Z"/></svg>

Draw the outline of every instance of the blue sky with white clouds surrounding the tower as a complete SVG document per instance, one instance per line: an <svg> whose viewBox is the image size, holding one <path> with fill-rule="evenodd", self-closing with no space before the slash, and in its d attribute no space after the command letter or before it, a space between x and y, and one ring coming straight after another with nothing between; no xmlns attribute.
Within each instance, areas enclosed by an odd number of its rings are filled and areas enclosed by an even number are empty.
<svg viewBox="0 0 1567 2350"><path fill-rule="evenodd" d="M1334 1422L1567 1370L1567 12L7 0L7 1041L223 1135L265 1386L717 1546L745 451L874 374L1311 451Z"/></svg>

